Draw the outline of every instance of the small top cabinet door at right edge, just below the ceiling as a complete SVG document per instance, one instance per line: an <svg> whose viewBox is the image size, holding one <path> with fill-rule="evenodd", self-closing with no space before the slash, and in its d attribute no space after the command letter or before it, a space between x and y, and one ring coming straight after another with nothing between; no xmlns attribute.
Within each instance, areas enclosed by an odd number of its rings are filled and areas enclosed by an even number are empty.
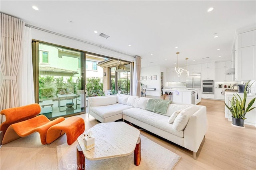
<svg viewBox="0 0 256 170"><path fill-rule="evenodd" d="M238 48L256 45L256 30L238 34Z"/></svg>

